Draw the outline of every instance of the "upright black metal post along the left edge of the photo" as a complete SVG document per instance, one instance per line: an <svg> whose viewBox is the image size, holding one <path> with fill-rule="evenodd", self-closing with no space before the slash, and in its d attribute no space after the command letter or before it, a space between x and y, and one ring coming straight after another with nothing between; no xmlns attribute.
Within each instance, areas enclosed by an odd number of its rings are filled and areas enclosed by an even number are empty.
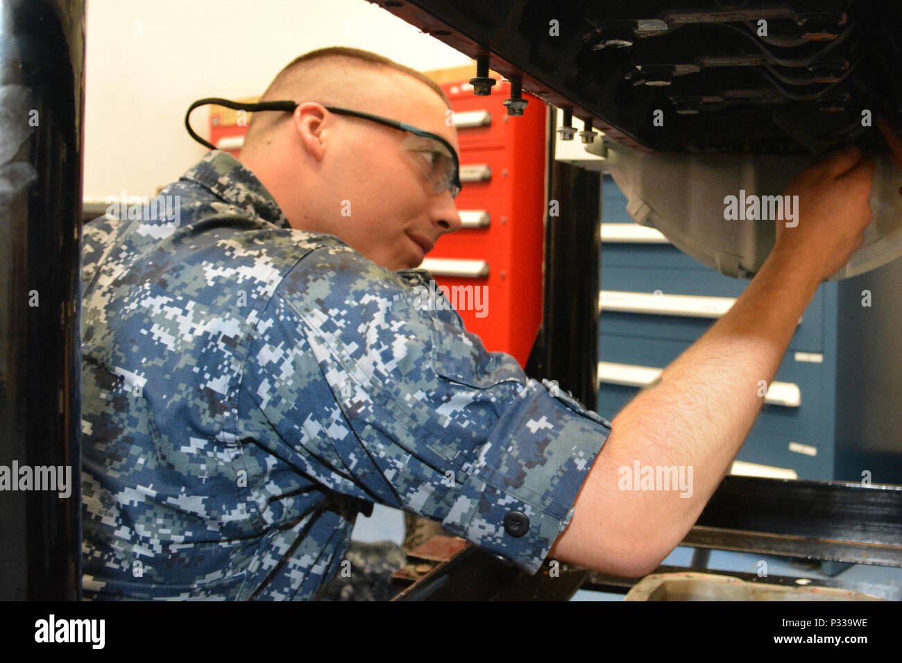
<svg viewBox="0 0 902 663"><path fill-rule="evenodd" d="M0 493L0 598L76 599L83 0L2 0L0 44L0 465L69 468Z"/></svg>

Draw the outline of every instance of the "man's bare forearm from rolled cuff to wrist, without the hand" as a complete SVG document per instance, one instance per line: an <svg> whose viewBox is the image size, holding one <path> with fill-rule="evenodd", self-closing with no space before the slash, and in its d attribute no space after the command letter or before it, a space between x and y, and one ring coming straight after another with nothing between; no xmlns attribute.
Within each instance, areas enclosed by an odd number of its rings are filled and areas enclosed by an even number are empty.
<svg viewBox="0 0 902 663"><path fill-rule="evenodd" d="M678 545L748 435L764 401L759 381L777 373L818 282L815 270L771 253L730 311L621 410L555 550L561 558L635 575ZM688 490L636 490L637 467L673 466L691 477Z"/></svg>

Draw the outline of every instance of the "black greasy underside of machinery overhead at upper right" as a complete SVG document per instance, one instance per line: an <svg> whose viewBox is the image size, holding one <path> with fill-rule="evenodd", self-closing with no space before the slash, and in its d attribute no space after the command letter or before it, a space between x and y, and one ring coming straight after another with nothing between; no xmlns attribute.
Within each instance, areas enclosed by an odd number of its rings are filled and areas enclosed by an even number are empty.
<svg viewBox="0 0 902 663"><path fill-rule="evenodd" d="M371 0L630 147L886 147L900 121L902 15L879 0ZM767 21L767 33L759 21ZM663 125L652 114L663 111ZM529 109L527 109L529 112Z"/></svg>

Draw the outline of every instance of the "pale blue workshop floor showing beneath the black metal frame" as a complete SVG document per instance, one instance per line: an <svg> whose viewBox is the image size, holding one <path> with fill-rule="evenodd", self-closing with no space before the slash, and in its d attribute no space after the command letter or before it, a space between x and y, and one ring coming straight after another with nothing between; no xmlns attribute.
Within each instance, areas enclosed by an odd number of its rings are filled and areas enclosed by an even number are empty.
<svg viewBox="0 0 902 663"><path fill-rule="evenodd" d="M372 543L374 541L390 540L398 545L404 539L404 516L402 511L391 509L382 504L373 507L373 515L370 518L360 517L354 527L351 537L354 541ZM665 565L689 566L692 561L693 548L676 548L667 559ZM733 553L724 550L713 550L708 561L708 570L716 571L744 571L757 573L759 561L765 559L768 563L770 576L791 576L808 578L829 578L819 570L805 569L795 566L785 557L769 557L752 555L750 553ZM895 585L902 588L902 568L890 568L888 566L870 566L856 564L845 569L836 579L855 583L879 583L881 585ZM602 592L590 592L579 590L571 601L622 601L623 594L605 594Z"/></svg>

